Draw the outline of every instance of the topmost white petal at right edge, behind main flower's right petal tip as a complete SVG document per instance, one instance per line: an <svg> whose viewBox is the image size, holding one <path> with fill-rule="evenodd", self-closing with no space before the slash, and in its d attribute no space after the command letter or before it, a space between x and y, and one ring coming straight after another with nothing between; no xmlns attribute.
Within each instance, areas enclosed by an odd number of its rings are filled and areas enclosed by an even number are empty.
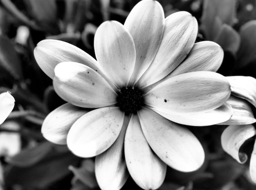
<svg viewBox="0 0 256 190"><path fill-rule="evenodd" d="M251 76L227 76L231 93L256 107L256 79ZM246 85L245 85L246 84Z"/></svg>

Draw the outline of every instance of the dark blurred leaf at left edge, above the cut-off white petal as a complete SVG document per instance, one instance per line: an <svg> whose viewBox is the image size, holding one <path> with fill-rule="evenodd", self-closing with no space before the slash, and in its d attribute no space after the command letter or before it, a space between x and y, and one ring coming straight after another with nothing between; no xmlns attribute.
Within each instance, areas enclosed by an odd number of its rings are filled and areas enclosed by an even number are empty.
<svg viewBox="0 0 256 190"><path fill-rule="evenodd" d="M5 36L0 36L0 68L9 72L16 80L23 77L18 53L11 40Z"/></svg>

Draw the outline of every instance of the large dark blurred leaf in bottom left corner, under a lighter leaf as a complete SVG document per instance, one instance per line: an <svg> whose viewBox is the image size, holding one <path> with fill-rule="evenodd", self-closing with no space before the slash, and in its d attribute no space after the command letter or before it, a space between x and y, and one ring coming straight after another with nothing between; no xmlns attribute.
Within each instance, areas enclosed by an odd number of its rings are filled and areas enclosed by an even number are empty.
<svg viewBox="0 0 256 190"><path fill-rule="evenodd" d="M72 174L69 165L77 165L81 158L74 156L67 147L54 148L43 159L26 168L7 165L4 180L7 186L18 184L25 189L45 189L56 181Z"/></svg>

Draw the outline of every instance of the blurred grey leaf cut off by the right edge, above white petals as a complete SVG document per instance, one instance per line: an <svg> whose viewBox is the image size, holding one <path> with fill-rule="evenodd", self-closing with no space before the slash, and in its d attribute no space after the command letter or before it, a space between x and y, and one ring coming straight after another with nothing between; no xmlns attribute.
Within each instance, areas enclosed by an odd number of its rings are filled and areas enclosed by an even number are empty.
<svg viewBox="0 0 256 190"><path fill-rule="evenodd" d="M256 58L256 20L251 20L240 29L241 45L238 50L237 68L245 67Z"/></svg>

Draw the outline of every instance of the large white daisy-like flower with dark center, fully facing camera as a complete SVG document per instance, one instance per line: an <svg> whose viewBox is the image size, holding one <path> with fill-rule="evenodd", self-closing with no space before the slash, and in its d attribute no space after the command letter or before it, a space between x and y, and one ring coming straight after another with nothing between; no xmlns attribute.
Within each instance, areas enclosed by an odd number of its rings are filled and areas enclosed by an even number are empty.
<svg viewBox="0 0 256 190"><path fill-rule="evenodd" d="M124 25L103 22L94 36L97 61L58 40L34 50L38 65L68 103L46 118L46 139L81 157L96 156L101 189L120 189L128 174L143 189L157 189L166 165L200 168L204 150L186 127L229 120L228 80L215 73L223 50L195 43L198 23L180 11L164 18L155 0L142 0ZM127 170L128 169L128 170Z"/></svg>

